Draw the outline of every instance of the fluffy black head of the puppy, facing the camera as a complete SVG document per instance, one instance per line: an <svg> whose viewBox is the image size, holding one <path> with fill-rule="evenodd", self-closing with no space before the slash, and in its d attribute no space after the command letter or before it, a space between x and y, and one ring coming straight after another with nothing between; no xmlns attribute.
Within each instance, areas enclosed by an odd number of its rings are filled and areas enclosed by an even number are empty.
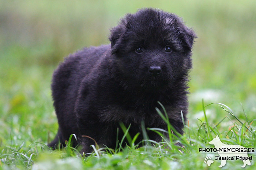
<svg viewBox="0 0 256 170"><path fill-rule="evenodd" d="M109 40L115 66L125 78L159 87L187 76L195 37L178 16L146 8L121 19Z"/></svg>

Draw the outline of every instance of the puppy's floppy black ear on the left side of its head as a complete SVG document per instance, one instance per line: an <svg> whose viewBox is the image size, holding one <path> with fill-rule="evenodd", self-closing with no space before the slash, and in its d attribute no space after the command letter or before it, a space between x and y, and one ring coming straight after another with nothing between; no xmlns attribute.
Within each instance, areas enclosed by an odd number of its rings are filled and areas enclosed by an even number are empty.
<svg viewBox="0 0 256 170"><path fill-rule="evenodd" d="M111 41L112 54L115 54L118 52L118 49L121 44L121 35L123 35L123 32L124 32L123 24L119 24L110 30L109 40Z"/></svg>

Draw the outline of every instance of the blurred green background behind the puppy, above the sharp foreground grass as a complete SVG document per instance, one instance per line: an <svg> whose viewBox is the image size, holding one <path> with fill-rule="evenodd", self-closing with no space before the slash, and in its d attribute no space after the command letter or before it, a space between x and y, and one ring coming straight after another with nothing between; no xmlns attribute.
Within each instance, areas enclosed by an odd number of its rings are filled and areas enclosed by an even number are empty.
<svg viewBox="0 0 256 170"><path fill-rule="evenodd" d="M226 104L243 120L242 104L248 118L256 118L255 0L1 0L0 147L10 138L16 145L53 139L58 128L50 91L54 68L84 46L109 43L109 28L142 7L176 13L198 36L189 83L190 126L203 119L202 98L206 104ZM207 114L215 124L226 115L218 106Z"/></svg>

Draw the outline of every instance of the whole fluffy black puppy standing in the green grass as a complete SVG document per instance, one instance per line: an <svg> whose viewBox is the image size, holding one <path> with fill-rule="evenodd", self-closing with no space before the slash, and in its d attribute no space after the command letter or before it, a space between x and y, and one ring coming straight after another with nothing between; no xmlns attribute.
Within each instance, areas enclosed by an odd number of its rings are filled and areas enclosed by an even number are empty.
<svg viewBox="0 0 256 170"><path fill-rule="evenodd" d="M54 148L59 139L64 143L76 134L84 153L94 145L84 136L114 148L120 122L126 127L131 124L131 136L142 131L142 121L146 128L166 130L155 110L161 108L158 101L182 134L181 110L186 119L194 38L195 33L178 16L147 8L121 19L111 30L111 45L84 48L70 55L53 74L59 131L48 146ZM148 137L161 141L151 131Z"/></svg>

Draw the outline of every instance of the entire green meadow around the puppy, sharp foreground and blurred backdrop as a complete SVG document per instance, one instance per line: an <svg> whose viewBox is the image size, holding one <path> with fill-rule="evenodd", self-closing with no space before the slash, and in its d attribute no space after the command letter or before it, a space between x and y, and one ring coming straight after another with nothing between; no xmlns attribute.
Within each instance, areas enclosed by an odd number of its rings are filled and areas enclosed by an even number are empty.
<svg viewBox="0 0 256 170"><path fill-rule="evenodd" d="M129 146L115 151L94 145L95 152L84 157L69 145L49 150L45 144L58 129L50 91L53 70L83 46L109 43L108 28L120 17L150 6L177 13L198 36L189 122L182 136L174 136L170 125L168 131L185 148L167 139L144 141L147 145L138 148L127 132ZM219 160L208 167L206 155L199 153L199 147L213 147L208 142L216 134L223 143L255 148L255 9L254 0L0 0L0 169L216 169ZM146 139L146 133L140 135ZM255 169L252 157L246 169ZM222 169L241 165L227 161Z"/></svg>

